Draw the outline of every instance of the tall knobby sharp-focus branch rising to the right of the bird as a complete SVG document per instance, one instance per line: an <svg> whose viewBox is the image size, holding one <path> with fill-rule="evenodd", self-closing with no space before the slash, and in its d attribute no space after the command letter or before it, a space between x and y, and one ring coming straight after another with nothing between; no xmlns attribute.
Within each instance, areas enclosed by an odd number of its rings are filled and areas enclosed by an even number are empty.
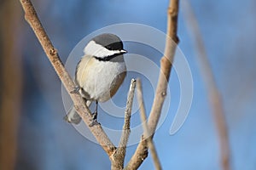
<svg viewBox="0 0 256 170"><path fill-rule="evenodd" d="M166 88L168 85L172 61L176 51L178 38L177 38L177 14L178 14L178 0L170 0L168 13L167 13L167 31L166 31L166 50L165 55L160 60L160 77L156 88L154 103L148 118L148 130L152 134L157 123L159 122L162 105L166 99ZM125 169L137 169L148 156L148 147L146 140L141 140L137 146L137 150L131 157Z"/></svg>

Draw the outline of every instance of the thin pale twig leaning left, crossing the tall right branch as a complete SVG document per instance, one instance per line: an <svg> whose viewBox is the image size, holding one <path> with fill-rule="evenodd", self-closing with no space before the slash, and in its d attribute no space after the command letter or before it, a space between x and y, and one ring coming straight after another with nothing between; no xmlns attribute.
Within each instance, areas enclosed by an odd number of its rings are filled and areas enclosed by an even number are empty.
<svg viewBox="0 0 256 170"><path fill-rule="evenodd" d="M160 160L159 160L159 157L157 156L157 152L154 147L154 141L152 138L150 138L150 134L148 132L147 116L146 116L146 111L145 111L145 106L143 101L143 88L142 88L142 83L140 79L137 80L137 101L140 105L141 119L143 122L143 131L144 131L143 137L147 140L148 148L151 152L155 169L161 170L162 167L160 165Z"/></svg>

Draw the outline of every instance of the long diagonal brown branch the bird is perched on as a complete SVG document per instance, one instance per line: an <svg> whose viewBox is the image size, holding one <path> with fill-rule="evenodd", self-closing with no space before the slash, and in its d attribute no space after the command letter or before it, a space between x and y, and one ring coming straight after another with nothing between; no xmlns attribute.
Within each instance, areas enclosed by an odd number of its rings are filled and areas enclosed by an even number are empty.
<svg viewBox="0 0 256 170"><path fill-rule="evenodd" d="M68 94L71 96L73 100L73 104L79 113L79 116L82 117L83 121L90 128L90 132L94 135L97 142L102 145L102 148L107 152L108 156L112 156L113 152L116 150L113 143L108 139L107 134L103 131L100 125L95 125L90 127L90 110L86 105L84 105L84 99L79 94L71 94L70 92L73 91L75 85L67 73L64 65L61 62L59 54L57 50L53 47L52 43L49 41L49 37L47 36L44 28L38 19L38 15L32 6L30 0L20 0L22 8L25 11L25 19L32 27L32 30L38 37L39 42L41 43L42 47L44 48L45 54L48 56L50 63L55 68L57 75L60 77L61 82L63 83L64 87L67 89Z"/></svg>

